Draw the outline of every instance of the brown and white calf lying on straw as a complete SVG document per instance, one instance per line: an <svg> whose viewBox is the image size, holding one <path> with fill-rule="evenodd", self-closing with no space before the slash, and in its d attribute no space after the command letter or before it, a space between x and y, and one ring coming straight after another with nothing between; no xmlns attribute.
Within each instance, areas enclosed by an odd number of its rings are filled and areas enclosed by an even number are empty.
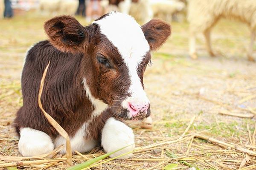
<svg viewBox="0 0 256 170"><path fill-rule="evenodd" d="M160 20L140 26L112 12L85 27L73 17L55 17L44 29L49 40L27 52L22 72L23 106L15 119L20 153L35 156L65 144L37 102L49 61L42 104L69 134L72 150L86 152L99 143L106 152L133 144L112 156L133 150L134 134L121 121L150 115L143 74L170 26Z"/></svg>

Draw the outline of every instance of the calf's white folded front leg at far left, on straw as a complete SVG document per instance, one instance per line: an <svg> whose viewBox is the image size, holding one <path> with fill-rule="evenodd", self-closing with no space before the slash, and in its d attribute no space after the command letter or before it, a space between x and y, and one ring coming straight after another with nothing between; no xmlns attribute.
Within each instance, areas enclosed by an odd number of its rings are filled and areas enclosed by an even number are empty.
<svg viewBox="0 0 256 170"><path fill-rule="evenodd" d="M21 155L26 157L49 153L54 149L50 136L29 127L20 129L18 147Z"/></svg>

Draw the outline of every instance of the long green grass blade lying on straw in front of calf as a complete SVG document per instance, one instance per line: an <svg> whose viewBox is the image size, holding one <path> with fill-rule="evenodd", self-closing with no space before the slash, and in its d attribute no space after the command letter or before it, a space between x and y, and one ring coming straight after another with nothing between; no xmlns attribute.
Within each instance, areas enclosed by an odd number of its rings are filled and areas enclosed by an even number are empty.
<svg viewBox="0 0 256 170"><path fill-rule="evenodd" d="M132 145L132 144L131 144L131 145ZM131 145L128 145L128 146L125 146L125 147L129 147L129 146L131 146ZM91 160L85 161L85 162L83 162L83 163L81 163L81 164L78 164L78 165L76 165L76 166L74 166L74 167L69 167L69 168L67 168L67 170L81 170L81 169L83 169L83 168L86 168L86 167L90 166L91 164L94 164L94 163L97 162L97 161L100 161L100 160L102 160L102 159L107 158L108 156L112 155L113 153L118 152L119 150L124 149L125 147L122 147L121 149L115 150L115 151L113 151L113 152L111 152L111 153L106 153L106 154L104 154L104 155L102 155L102 156L98 156L98 157L93 158L93 159L91 159Z"/></svg>

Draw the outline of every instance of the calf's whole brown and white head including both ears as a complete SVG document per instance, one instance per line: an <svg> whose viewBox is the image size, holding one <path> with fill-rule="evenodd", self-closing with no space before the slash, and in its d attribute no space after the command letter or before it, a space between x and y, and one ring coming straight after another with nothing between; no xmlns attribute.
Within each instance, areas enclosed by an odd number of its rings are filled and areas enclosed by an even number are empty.
<svg viewBox="0 0 256 170"><path fill-rule="evenodd" d="M143 74L151 51L170 35L170 26L151 20L140 26L129 15L111 12L89 26L70 16L55 17L45 23L45 31L55 48L83 53L84 84L95 107L111 109L114 116L143 119L150 115L150 103L143 86Z"/></svg>

